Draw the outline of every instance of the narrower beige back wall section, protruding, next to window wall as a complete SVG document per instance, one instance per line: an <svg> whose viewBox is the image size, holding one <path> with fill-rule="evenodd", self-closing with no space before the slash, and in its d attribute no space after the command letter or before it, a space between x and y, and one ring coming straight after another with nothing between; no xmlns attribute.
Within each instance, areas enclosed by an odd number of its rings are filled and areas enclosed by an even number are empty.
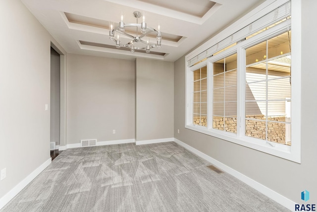
<svg viewBox="0 0 317 212"><path fill-rule="evenodd" d="M173 62L136 60L136 140L172 138Z"/></svg>

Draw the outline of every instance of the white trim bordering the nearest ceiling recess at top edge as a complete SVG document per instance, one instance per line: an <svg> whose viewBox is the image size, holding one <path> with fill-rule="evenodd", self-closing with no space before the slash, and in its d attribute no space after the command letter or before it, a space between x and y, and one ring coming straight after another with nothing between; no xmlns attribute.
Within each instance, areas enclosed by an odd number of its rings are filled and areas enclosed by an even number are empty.
<svg viewBox="0 0 317 212"><path fill-rule="evenodd" d="M106 1L116 3L116 4L121 4L124 6L133 7L133 8L138 8L140 10L144 10L144 11L148 11L148 12L156 13L159 15L164 15L171 18L176 18L179 20L191 22L194 24L200 24L200 25L202 25L206 20L208 20L211 17L211 15L214 14L222 6L222 4L220 3L215 3L211 7L211 9L208 10L208 12L202 18L200 18L194 15L186 14L184 12L179 12L173 9L168 9L165 7L153 5L151 3L146 3L146 2L138 1L138 0L106 0Z"/></svg>

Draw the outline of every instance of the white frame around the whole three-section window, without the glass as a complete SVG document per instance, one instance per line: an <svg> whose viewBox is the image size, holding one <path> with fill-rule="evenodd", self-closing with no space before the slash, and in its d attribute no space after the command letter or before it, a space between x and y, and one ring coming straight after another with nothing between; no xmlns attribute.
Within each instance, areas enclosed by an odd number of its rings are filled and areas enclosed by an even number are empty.
<svg viewBox="0 0 317 212"><path fill-rule="evenodd" d="M272 5L274 2L274 8L267 7L268 3ZM245 25L240 25L240 29L244 26L248 25L249 23L245 23L248 20L250 23L254 20L259 18L259 15L264 15L273 9L277 8L279 5L287 2L287 0L267 0L262 5L257 7L254 11L250 14L247 14L245 17L242 18L240 21ZM264 41L265 39L269 39L275 37L282 32L287 30L286 22L283 22L276 27L272 27L264 32L256 35L252 38L249 38L246 41L238 43L236 46L222 52L216 54L215 56L209 57L204 62L198 63L195 66L187 67L187 61L189 61L193 56L198 55L199 53L205 51L206 49L210 48L211 46L216 44L216 41L221 40L221 38L226 38L234 33L234 30L238 31L239 27L237 21L235 24L231 25L223 32L216 35L214 38L211 38L208 42L194 50L192 53L189 53L185 57L186 61L186 117L185 117L185 128L195 130L197 132L201 132L207 135L211 135L229 142L233 142L248 148L252 148L255 150L259 150L261 152L274 155L283 159L288 159L291 161L295 161L301 163L301 0L292 0L291 1L291 28L292 28L292 86L291 86L291 146L281 145L272 142L266 142L261 139L251 138L245 136L245 49L260 43L260 41ZM250 17L251 16L251 17ZM250 21L251 20L251 21ZM277 29L277 30L276 30ZM231 33L231 34L230 34ZM212 129L212 62L215 62L227 55L231 55L232 53L237 53L237 134L225 132L217 129ZM295 58L295 59L294 59ZM202 127L192 124L193 116L192 116L192 80L190 80L191 70L196 70L199 67L206 65L207 63L207 80L208 80L208 112L207 112L207 120L208 120L208 127ZM296 108L296 109L295 109Z"/></svg>

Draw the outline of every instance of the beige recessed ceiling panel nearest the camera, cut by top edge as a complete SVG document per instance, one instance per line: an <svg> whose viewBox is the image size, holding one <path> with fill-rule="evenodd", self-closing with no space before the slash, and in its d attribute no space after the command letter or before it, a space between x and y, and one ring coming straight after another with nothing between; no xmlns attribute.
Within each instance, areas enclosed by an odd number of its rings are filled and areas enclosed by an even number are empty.
<svg viewBox="0 0 317 212"><path fill-rule="evenodd" d="M203 17L215 4L211 0L139 0L167 9Z"/></svg>

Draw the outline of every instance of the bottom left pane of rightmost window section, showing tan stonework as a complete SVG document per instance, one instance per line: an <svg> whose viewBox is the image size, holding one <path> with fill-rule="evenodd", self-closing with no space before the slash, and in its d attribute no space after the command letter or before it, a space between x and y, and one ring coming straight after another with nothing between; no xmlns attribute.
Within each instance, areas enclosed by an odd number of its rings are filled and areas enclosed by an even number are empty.
<svg viewBox="0 0 317 212"><path fill-rule="evenodd" d="M266 122L246 119L246 136L266 140Z"/></svg>

